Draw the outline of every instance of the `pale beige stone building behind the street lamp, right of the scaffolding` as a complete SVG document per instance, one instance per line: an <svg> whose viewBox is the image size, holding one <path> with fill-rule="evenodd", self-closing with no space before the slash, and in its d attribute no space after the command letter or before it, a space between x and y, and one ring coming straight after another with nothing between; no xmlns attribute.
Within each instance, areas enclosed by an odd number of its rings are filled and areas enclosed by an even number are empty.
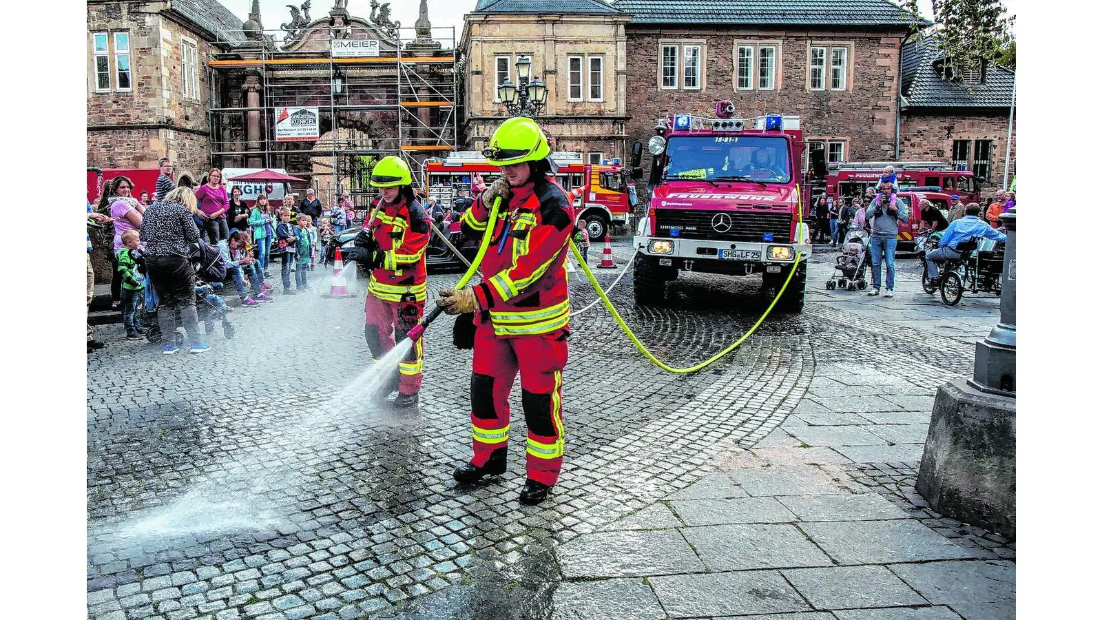
<svg viewBox="0 0 1102 620"><path fill-rule="evenodd" d="M553 149L587 161L623 158L628 114L628 15L601 0L478 0L464 15L467 148L483 149L508 111L497 86L517 82L516 62L548 86L538 120Z"/></svg>

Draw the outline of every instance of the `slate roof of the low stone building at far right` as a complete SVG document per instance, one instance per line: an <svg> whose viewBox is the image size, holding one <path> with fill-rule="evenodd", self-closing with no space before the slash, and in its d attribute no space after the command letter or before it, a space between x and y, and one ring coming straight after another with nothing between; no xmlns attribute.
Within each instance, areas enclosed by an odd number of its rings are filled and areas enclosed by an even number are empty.
<svg viewBox="0 0 1102 620"><path fill-rule="evenodd" d="M983 84L942 79L933 67L941 60L937 41L907 41L903 47L904 108L1009 108L1014 72L990 63Z"/></svg>

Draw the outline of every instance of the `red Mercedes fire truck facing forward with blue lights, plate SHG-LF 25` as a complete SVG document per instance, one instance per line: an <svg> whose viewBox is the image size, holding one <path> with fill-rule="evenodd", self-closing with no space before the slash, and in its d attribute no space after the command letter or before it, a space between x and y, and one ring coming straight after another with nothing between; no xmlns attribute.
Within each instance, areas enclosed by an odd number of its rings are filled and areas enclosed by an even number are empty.
<svg viewBox="0 0 1102 620"><path fill-rule="evenodd" d="M795 266L776 308L799 312L811 256L808 225L798 224L801 200L804 217L809 204L806 188L797 194L804 148L800 119L736 119L731 101L720 101L716 114L670 116L655 128L648 145L655 189L634 240L636 301L661 301L666 282L681 271L760 274L763 291L776 295ZM634 167L638 159L633 154Z"/></svg>

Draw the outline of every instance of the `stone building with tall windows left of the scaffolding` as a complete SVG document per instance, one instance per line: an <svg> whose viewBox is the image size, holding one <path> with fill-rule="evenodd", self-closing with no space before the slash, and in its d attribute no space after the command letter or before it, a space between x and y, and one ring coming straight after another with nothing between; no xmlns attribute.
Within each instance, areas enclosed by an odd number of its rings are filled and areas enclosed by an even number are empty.
<svg viewBox="0 0 1102 620"><path fill-rule="evenodd" d="M177 179L198 181L210 161L208 44L240 31L240 18L217 0L86 3L88 165L155 168L169 157Z"/></svg>

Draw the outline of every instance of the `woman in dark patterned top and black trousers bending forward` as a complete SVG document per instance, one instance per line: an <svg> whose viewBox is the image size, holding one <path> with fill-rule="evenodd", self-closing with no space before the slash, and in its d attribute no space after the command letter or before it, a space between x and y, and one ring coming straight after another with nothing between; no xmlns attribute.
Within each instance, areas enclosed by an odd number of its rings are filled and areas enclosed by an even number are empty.
<svg viewBox="0 0 1102 620"><path fill-rule="evenodd" d="M199 229L194 214L198 211L195 192L181 186L169 192L164 200L145 210L141 223L141 237L145 242L145 267L161 300L156 320L166 340L162 351L172 355L176 345L176 313L191 339L191 352L210 349L199 335L198 316L195 312L195 270L192 267L191 245L198 242Z"/></svg>

